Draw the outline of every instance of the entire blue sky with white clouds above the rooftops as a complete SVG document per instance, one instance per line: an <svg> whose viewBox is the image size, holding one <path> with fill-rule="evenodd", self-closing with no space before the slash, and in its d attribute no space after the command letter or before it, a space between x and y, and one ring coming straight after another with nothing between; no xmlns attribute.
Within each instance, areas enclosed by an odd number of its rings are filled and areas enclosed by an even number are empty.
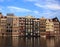
<svg viewBox="0 0 60 47"><path fill-rule="evenodd" d="M60 0L0 0L0 12L60 19Z"/></svg>

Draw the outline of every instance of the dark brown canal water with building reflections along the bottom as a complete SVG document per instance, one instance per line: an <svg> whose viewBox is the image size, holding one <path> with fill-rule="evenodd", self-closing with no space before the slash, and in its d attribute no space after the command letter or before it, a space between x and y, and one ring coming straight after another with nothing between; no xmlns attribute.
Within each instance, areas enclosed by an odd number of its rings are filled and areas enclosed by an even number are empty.
<svg viewBox="0 0 60 47"><path fill-rule="evenodd" d="M0 47L60 47L60 38L0 37Z"/></svg>

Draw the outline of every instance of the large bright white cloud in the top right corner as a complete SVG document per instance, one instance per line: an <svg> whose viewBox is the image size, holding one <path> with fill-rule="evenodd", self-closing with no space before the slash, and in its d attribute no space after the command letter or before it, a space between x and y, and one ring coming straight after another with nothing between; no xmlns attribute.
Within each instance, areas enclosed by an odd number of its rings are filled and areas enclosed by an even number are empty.
<svg viewBox="0 0 60 47"><path fill-rule="evenodd" d="M58 0L25 0L33 2L35 6L42 7L51 10L60 10L60 4Z"/></svg>

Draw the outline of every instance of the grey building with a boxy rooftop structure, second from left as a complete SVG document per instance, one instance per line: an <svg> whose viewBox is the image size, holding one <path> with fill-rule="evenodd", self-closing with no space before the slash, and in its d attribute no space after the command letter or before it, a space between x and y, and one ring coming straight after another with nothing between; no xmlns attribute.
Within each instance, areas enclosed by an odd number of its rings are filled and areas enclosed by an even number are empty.
<svg viewBox="0 0 60 47"><path fill-rule="evenodd" d="M7 36L11 36L12 35L12 26L13 26L13 14L7 14L7 25L6 25L6 33Z"/></svg>

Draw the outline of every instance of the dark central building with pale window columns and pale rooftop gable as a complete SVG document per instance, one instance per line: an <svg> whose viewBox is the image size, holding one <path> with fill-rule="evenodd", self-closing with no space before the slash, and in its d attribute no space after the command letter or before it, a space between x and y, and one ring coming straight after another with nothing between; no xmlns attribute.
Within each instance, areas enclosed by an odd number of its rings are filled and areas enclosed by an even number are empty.
<svg viewBox="0 0 60 47"><path fill-rule="evenodd" d="M32 17L32 16L26 16L25 17L25 33L26 33L26 36L33 36L33 20L35 18Z"/></svg>

